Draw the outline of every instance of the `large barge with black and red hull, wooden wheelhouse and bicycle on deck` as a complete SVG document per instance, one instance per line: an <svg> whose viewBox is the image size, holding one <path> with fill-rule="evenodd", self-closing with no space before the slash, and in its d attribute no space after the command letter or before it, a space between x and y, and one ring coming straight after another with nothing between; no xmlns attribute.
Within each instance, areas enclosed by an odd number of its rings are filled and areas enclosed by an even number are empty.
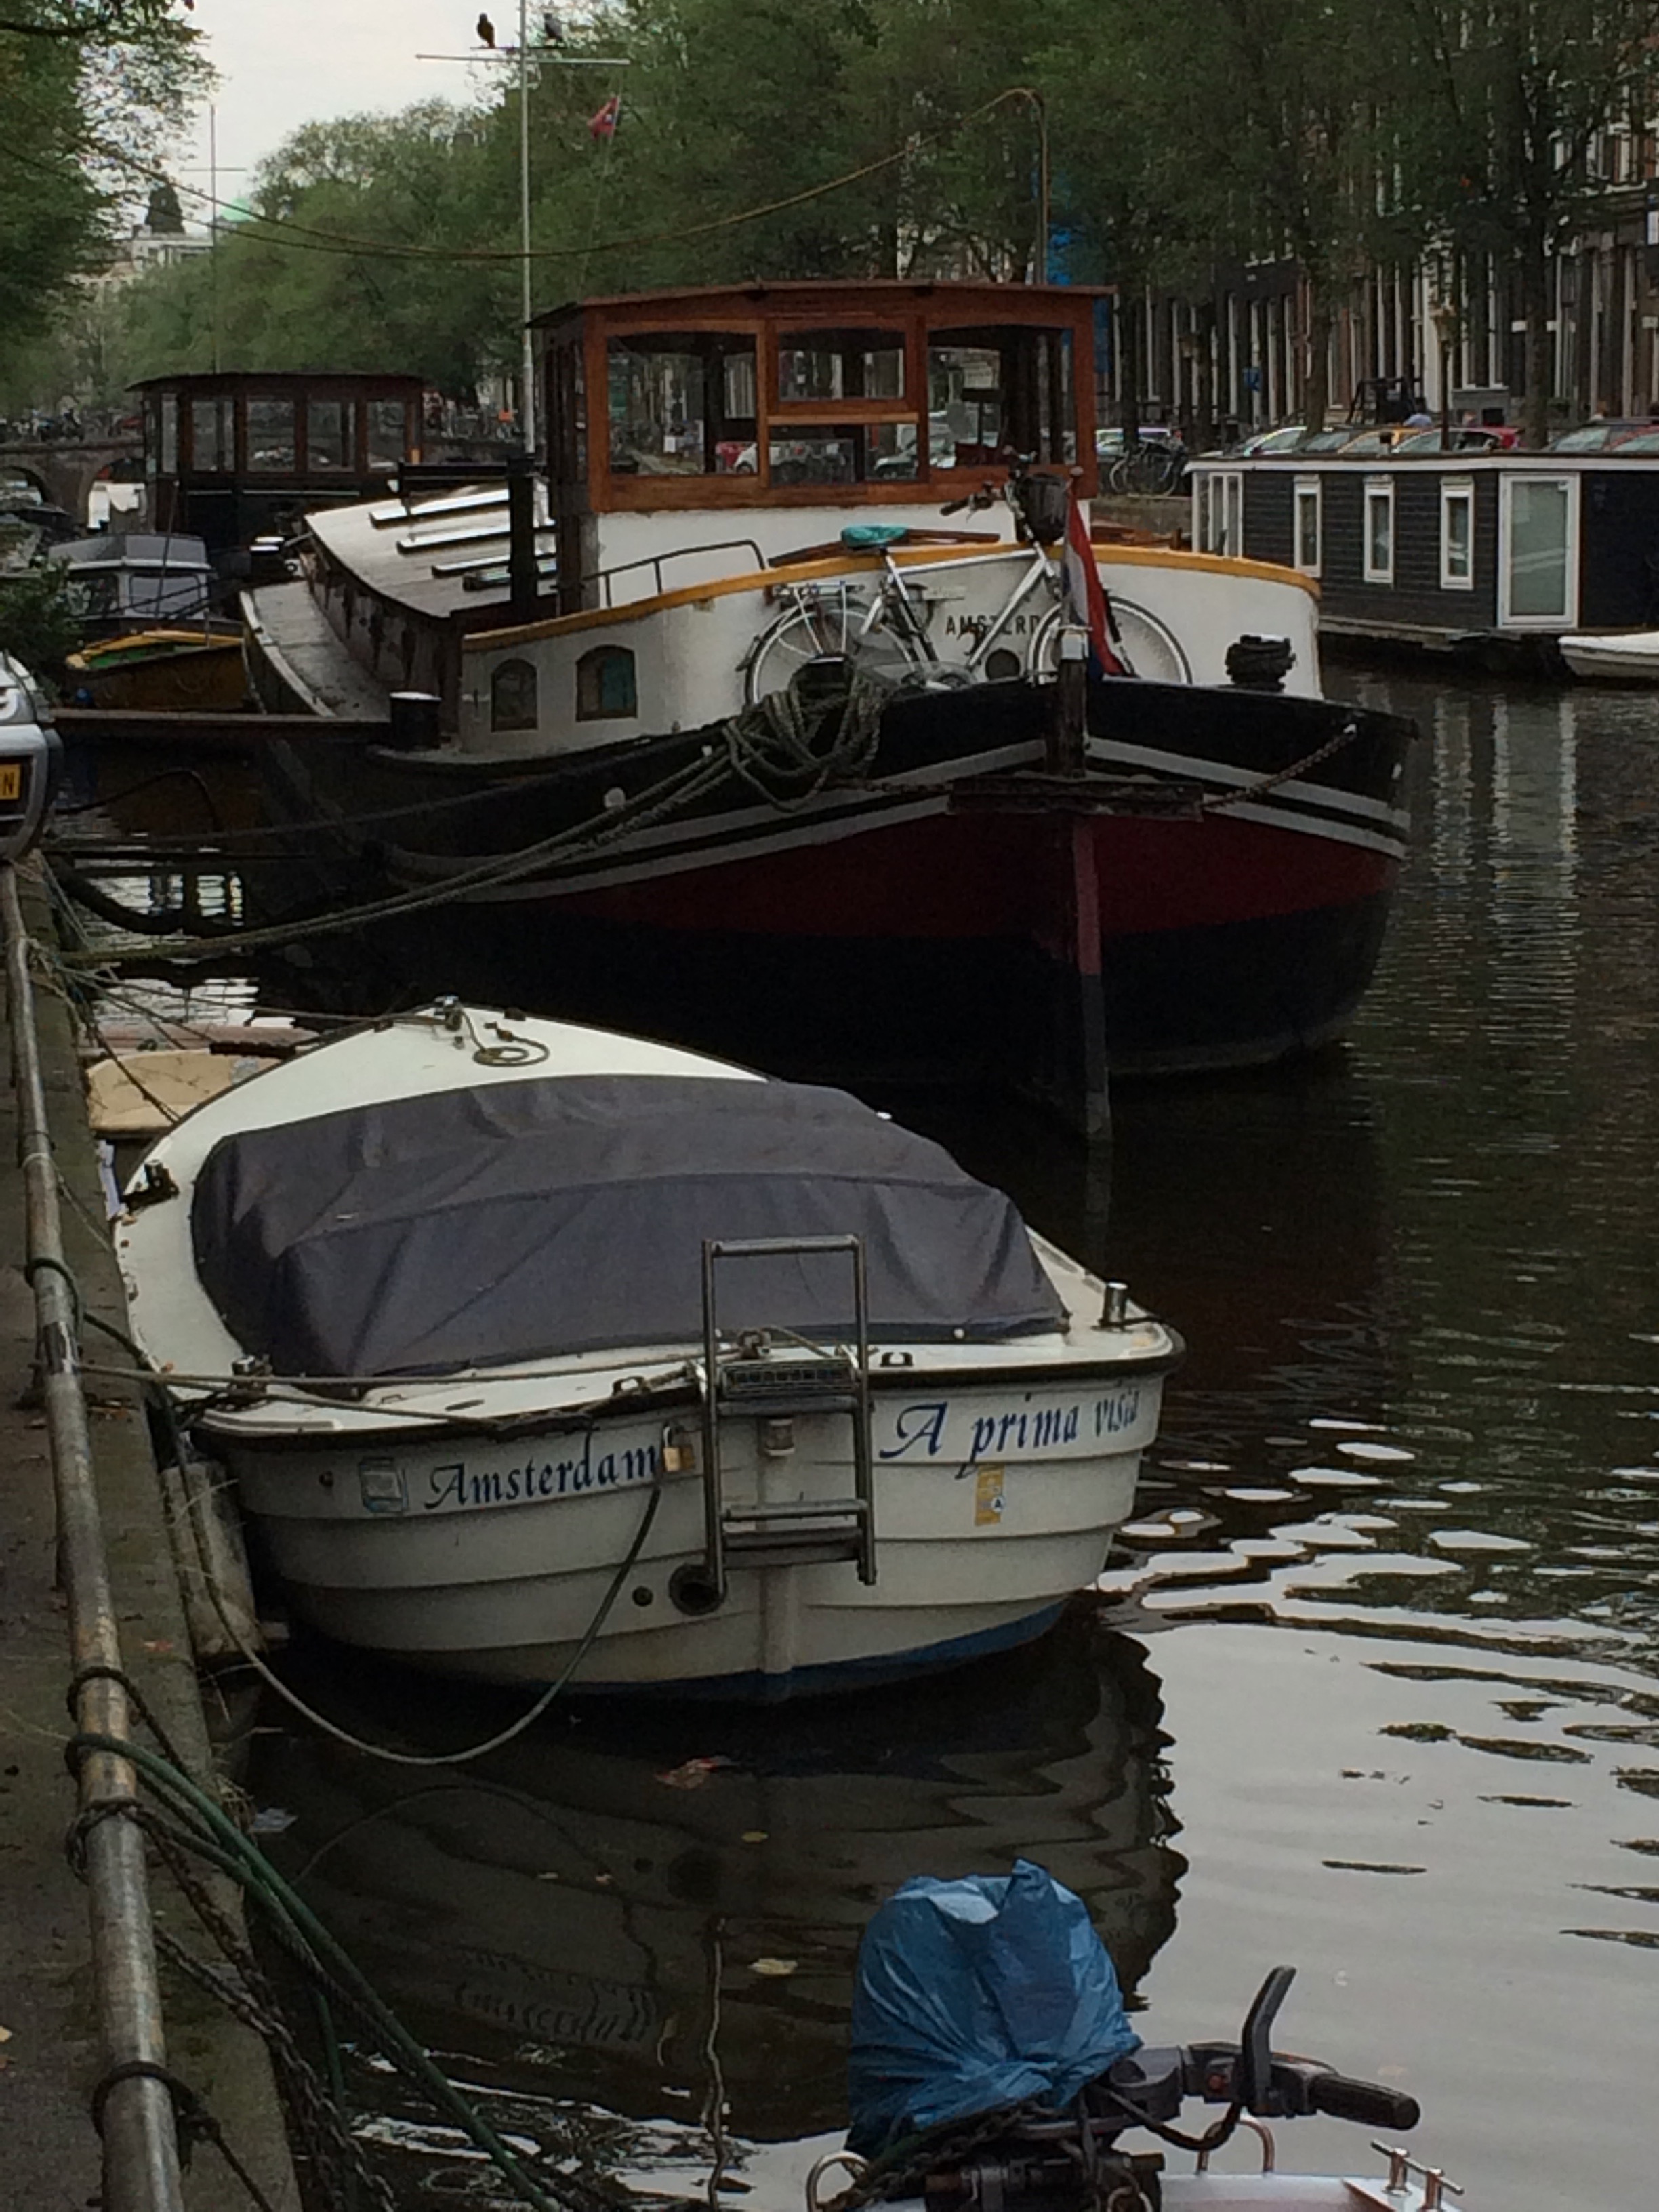
<svg viewBox="0 0 1659 2212"><path fill-rule="evenodd" d="M458 989L1084 1128L1108 1075L1343 1029L1409 723L1323 695L1310 577L1091 538L1086 290L754 283L538 338L546 489L405 471L248 595L270 706L387 712L268 748L334 896L392 891Z"/></svg>

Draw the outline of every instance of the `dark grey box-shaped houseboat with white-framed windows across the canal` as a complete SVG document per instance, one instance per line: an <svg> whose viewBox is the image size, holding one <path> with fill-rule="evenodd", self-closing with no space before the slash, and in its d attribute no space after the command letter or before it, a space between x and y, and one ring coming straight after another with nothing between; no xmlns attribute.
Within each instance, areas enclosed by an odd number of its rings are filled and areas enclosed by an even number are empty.
<svg viewBox="0 0 1659 2212"><path fill-rule="evenodd" d="M1659 453L1199 460L1192 544L1318 584L1327 644L1566 675L1562 637L1659 624Z"/></svg>

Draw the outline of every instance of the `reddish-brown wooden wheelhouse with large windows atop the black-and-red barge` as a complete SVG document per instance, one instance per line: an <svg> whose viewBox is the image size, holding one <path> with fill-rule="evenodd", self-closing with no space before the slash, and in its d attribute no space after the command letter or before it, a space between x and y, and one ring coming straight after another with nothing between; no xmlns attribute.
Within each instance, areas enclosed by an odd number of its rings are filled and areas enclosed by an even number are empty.
<svg viewBox="0 0 1659 2212"><path fill-rule="evenodd" d="M750 283L553 310L538 332L560 611L599 604L602 573L646 557L624 518L723 513L732 551L770 560L807 509L938 511L1015 458L1091 498L1097 296Z"/></svg>

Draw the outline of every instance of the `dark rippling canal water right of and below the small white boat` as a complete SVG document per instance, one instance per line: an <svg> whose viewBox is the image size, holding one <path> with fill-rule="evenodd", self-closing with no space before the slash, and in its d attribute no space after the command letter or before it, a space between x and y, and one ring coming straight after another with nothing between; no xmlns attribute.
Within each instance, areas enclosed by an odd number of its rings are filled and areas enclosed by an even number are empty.
<svg viewBox="0 0 1659 2212"><path fill-rule="evenodd" d="M1290 1962L1281 2046L1418 2095L1475 2212L1659 2203L1659 703L1332 688L1425 732L1340 1051L1121 1095L1108 1170L902 1102L1190 1345L1055 1637L774 1714L573 1705L449 1774L263 1712L276 1863L573 2174L701 2199L721 2161L728 2203L794 2212L872 1907L1026 1854L1088 1898L1146 2039L1232 2033ZM414 1750L511 1714L290 1666ZM400 2203L507 2201L352 2079ZM1334 2121L1279 2157L1378 2166Z"/></svg>

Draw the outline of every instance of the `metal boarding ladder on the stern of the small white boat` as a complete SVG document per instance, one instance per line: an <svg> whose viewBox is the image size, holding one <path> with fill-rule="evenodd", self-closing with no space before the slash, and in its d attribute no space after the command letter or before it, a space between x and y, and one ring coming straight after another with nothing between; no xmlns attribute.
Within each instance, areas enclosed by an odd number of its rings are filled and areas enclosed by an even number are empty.
<svg viewBox="0 0 1659 2212"><path fill-rule="evenodd" d="M721 1349L717 1272L721 1261L790 1259L843 1252L852 1270L852 1345L801 1343L799 1356L768 1349L763 1329L745 1332ZM860 1237L748 1237L703 1243L703 1606L726 1601L732 1562L745 1566L805 1566L854 1559L858 1579L876 1579L876 1478L869 1442L869 1292ZM768 1422L796 1416L845 1413L852 1425L852 1495L763 1504ZM723 1433L730 1422L757 1427L754 1504L726 1502ZM776 1436L776 1431L772 1431ZM787 1449L787 1447L785 1447Z"/></svg>

